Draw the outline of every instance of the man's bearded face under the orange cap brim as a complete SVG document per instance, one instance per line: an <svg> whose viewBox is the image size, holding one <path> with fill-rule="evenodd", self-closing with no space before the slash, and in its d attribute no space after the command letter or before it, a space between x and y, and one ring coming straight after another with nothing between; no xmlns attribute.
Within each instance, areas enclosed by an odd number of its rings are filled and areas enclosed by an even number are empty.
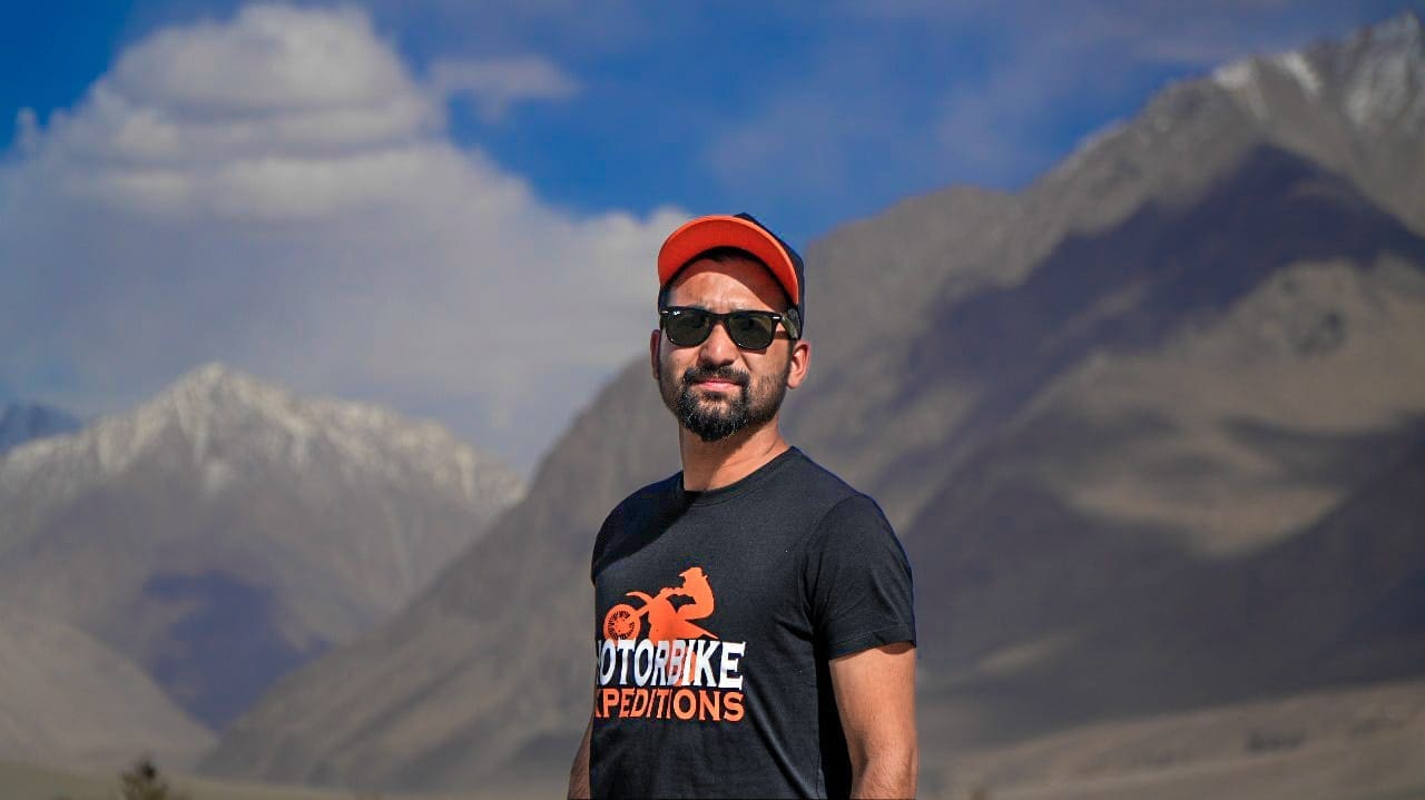
<svg viewBox="0 0 1425 800"><path fill-rule="evenodd" d="M683 270L668 293L670 306L710 312L785 310L785 295L767 269L752 260L698 260ZM664 404L703 441L718 441L777 417L792 377L797 344L778 327L762 350L744 350L715 325L707 340L678 347L656 337L654 374ZM805 346L802 344L802 349Z"/></svg>

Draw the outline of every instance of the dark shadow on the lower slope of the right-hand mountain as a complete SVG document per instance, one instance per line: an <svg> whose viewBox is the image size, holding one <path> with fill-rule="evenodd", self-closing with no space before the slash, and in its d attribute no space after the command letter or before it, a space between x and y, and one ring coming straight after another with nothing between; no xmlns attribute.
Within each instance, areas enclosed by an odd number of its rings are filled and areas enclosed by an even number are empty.
<svg viewBox="0 0 1425 800"><path fill-rule="evenodd" d="M1089 524L1043 500L1037 508L1053 512L1036 517L1035 494L1023 487L959 508L949 522L1019 518L992 531L960 530L969 535L948 528L949 552L919 557L919 564L968 561L918 585L922 608L943 615L922 638L950 642L948 652L923 648L925 658L942 670L979 668L943 695L979 720L960 744L1425 673L1425 424L1406 430L1396 433L1412 441L1404 457L1334 511L1235 558L1146 548L1137 540L1147 537ZM1379 438L1334 447L1358 454L1378 448ZM1037 524L1045 527L1036 537L1029 528ZM975 554L996 564L978 565ZM1094 564L1113 565L1099 574L1100 585ZM1013 578L1035 586L1032 595L996 596L976 581L1016 568L1032 571ZM995 645L1035 641L1072 618L1072 635L1045 658L1002 673L976 662Z"/></svg>

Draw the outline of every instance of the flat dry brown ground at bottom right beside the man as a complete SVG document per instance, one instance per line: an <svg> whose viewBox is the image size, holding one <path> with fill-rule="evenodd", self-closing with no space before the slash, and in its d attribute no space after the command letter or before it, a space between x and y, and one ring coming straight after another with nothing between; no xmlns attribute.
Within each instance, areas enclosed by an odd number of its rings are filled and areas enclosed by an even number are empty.
<svg viewBox="0 0 1425 800"><path fill-rule="evenodd" d="M1090 725L922 774L953 800L1425 797L1425 680Z"/></svg>

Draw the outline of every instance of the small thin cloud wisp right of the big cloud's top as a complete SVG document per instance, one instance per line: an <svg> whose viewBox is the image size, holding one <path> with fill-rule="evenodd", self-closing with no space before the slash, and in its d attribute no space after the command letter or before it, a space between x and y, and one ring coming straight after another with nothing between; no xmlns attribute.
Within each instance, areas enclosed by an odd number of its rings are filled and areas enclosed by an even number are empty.
<svg viewBox="0 0 1425 800"><path fill-rule="evenodd" d="M430 67L430 85L442 97L469 98L486 121L500 120L514 102L566 100L579 81L534 56L490 60L442 60Z"/></svg>

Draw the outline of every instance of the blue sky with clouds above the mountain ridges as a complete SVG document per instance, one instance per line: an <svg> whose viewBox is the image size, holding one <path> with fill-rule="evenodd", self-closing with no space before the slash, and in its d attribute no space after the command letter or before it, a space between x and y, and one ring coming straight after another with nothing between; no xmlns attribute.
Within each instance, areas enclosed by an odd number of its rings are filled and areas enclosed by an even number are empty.
<svg viewBox="0 0 1425 800"><path fill-rule="evenodd" d="M804 246L908 195L1015 189L1171 80L1422 6L11 4L0 399L113 411L222 360L529 467L637 353L683 216L747 209ZM583 282L610 319L577 347L524 333L576 307L536 289Z"/></svg>

